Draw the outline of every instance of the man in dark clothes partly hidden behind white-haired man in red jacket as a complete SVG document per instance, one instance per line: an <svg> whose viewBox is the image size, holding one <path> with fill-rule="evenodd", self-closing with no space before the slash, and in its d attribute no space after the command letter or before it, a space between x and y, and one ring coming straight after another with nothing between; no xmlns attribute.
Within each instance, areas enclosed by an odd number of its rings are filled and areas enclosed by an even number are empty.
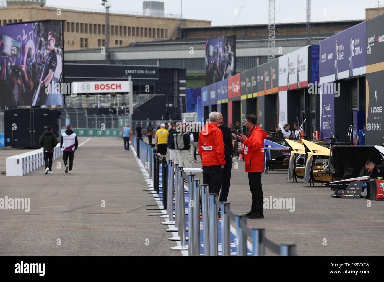
<svg viewBox="0 0 384 282"><path fill-rule="evenodd" d="M220 202L226 202L228 198L229 184L231 181L233 146L232 146L231 130L226 125L223 125L223 116L221 113L219 114L220 114L220 120L219 120L218 126L220 127L220 130L223 132L224 155L225 155L225 158L224 158L225 165L223 168L223 182L221 185L219 200Z"/></svg>

